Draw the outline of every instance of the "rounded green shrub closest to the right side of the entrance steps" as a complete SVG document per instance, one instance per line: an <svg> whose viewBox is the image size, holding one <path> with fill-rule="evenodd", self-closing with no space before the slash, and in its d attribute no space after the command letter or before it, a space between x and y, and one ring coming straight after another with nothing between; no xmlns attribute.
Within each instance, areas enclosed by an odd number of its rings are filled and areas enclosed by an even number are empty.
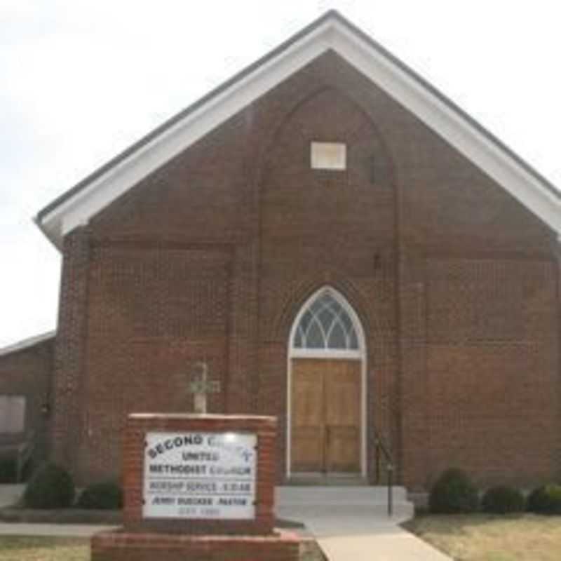
<svg viewBox="0 0 561 561"><path fill-rule="evenodd" d="M478 491L460 469L447 469L440 475L428 496L432 513L472 513L478 509Z"/></svg>

